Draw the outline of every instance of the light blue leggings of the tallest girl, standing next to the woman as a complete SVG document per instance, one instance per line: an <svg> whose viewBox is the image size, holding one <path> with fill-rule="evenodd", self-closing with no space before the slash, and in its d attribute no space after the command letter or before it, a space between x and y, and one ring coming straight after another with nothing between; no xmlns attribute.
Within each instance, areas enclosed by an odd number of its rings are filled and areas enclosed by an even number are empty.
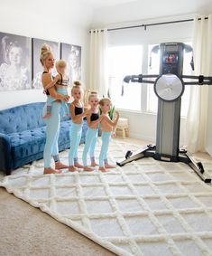
<svg viewBox="0 0 212 256"><path fill-rule="evenodd" d="M70 149L69 149L69 166L74 166L74 159L78 159L78 145L82 135L82 123L75 124L71 122L69 136L70 136Z"/></svg>

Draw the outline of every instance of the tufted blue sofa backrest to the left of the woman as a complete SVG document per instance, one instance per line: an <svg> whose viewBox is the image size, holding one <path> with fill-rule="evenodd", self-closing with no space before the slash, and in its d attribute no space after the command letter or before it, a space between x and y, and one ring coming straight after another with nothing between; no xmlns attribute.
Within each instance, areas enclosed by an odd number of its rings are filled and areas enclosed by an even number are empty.
<svg viewBox="0 0 212 256"><path fill-rule="evenodd" d="M44 102L38 102L0 110L0 133L10 134L44 126L43 107Z"/></svg>

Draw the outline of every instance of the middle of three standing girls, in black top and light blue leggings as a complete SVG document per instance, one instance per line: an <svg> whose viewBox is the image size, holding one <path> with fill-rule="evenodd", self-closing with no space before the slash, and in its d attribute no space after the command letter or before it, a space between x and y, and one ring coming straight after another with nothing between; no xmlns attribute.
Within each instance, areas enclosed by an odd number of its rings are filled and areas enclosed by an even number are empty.
<svg viewBox="0 0 212 256"><path fill-rule="evenodd" d="M102 116L99 117L99 114L98 114L98 101L99 100L98 100L97 92L91 93L88 96L88 105L90 106L91 112L89 112L87 115L88 130L86 133L86 144L82 154L84 171L93 171L91 167L87 166L88 151L90 153L91 166L92 167L97 166L97 163L95 161L95 156L94 156L94 149L97 142L99 123L102 120Z"/></svg>

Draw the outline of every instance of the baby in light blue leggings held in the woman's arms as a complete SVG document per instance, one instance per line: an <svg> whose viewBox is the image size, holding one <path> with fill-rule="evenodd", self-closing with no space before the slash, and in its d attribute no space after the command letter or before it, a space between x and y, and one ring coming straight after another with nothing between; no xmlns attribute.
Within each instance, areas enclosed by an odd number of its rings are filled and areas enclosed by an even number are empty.
<svg viewBox="0 0 212 256"><path fill-rule="evenodd" d="M63 60L56 62L56 69L58 71L58 74L56 75L54 80L51 81L51 83L49 83L45 87L44 91L47 91L51 87L55 86L58 93L60 93L62 95L68 95L67 88L69 85L69 76L66 74L66 66L67 66L67 64ZM55 101L54 98L52 98L51 96L48 97L46 113L43 116L43 119L48 119L51 117L52 102L54 102L54 101ZM63 100L61 100L61 104L62 104L61 107L63 108L65 115L69 116L68 104Z"/></svg>

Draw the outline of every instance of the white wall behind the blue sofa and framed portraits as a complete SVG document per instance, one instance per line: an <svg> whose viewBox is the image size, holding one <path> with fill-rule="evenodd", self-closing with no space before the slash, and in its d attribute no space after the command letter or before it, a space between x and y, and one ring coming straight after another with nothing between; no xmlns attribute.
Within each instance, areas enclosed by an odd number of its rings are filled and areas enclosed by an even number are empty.
<svg viewBox="0 0 212 256"><path fill-rule="evenodd" d="M74 0L0 0L0 6L0 32L81 45L82 81L87 82L91 8ZM1 91L0 109L43 100L41 90Z"/></svg>

